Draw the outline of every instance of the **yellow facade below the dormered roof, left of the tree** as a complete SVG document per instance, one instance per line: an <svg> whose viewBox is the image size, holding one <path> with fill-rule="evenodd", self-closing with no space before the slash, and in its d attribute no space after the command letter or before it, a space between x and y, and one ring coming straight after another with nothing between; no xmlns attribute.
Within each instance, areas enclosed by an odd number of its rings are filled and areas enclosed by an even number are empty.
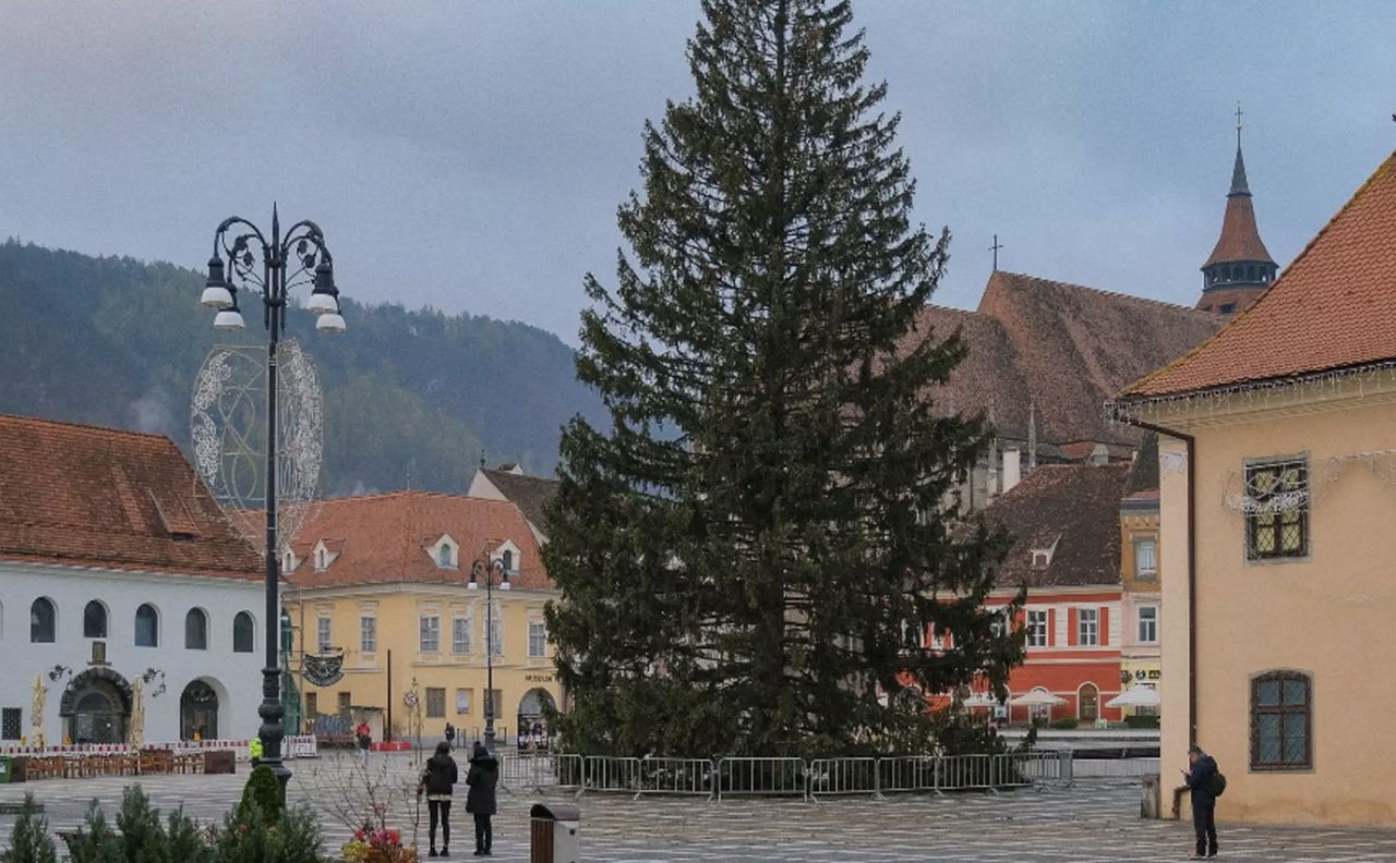
<svg viewBox="0 0 1396 863"><path fill-rule="evenodd" d="M521 714L537 717L546 698L563 705L543 608L554 591L493 591L498 623L496 733L514 743ZM307 717L352 710L377 732L412 736L406 693L416 690L423 740L440 740L450 722L459 740L484 732L486 591L463 584L366 584L286 593L296 627L293 657L343 651L343 679L325 687L302 680ZM389 685L391 666L391 685ZM546 693L546 698L543 696ZM391 711L389 711L391 704ZM374 711L381 711L374 715ZM388 717L391 715L391 724ZM529 735L532 728L525 728ZM376 733L376 738L378 735Z"/></svg>

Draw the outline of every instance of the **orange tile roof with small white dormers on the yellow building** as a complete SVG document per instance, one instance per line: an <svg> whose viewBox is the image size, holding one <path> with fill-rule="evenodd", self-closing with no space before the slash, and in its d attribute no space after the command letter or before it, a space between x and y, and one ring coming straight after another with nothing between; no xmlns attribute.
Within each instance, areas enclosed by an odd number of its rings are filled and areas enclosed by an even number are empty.
<svg viewBox="0 0 1396 863"><path fill-rule="evenodd" d="M450 534L461 547L455 569L437 566L430 555L429 549L443 534ZM486 544L503 540L519 549L519 572L510 577L514 587L556 590L518 506L508 501L424 491L320 502L292 544L302 563L286 577L304 588L385 583L463 586L470 577L470 562L480 556ZM320 541L339 553L324 570L314 567L311 555Z"/></svg>

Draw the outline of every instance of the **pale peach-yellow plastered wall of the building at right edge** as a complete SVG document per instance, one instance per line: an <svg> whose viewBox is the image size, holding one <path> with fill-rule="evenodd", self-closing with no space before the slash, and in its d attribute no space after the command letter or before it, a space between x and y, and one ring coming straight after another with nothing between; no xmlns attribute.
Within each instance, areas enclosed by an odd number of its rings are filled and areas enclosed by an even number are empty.
<svg viewBox="0 0 1396 863"><path fill-rule="evenodd" d="M1195 739L1228 779L1219 821L1396 827L1396 378L1205 396L1139 418L1195 441L1191 463L1180 438L1159 455L1164 788ZM1249 560L1238 477L1277 459L1308 466L1307 553ZM1308 680L1308 739L1291 742L1307 764L1252 763L1252 680L1270 672Z"/></svg>

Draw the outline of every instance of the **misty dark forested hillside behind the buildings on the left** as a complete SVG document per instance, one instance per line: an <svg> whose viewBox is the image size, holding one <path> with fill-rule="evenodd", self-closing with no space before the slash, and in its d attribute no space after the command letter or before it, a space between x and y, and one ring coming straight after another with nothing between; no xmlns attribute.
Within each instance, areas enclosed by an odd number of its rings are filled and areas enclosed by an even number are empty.
<svg viewBox="0 0 1396 863"><path fill-rule="evenodd" d="M352 284L341 273L343 284ZM198 304L201 273L0 243L0 413L156 431L188 450L194 376L218 333ZM352 289L346 289L352 293ZM461 492L480 459L549 474L563 422L600 418L572 350L544 330L475 315L343 301L349 330L317 333L293 311L325 392L325 495L410 485Z"/></svg>

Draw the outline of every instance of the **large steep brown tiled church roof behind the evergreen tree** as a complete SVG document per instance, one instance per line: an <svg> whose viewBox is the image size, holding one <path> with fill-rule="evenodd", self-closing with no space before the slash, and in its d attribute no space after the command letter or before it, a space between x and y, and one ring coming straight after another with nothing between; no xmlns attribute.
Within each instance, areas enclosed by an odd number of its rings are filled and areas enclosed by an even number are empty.
<svg viewBox="0 0 1396 863"><path fill-rule="evenodd" d="M1000 270L977 311L927 307L917 333L944 339L959 329L969 349L933 393L942 408L993 407L1000 434L1023 441L1036 402L1043 443L1134 443L1138 432L1108 424L1100 404L1219 325L1181 305Z"/></svg>

